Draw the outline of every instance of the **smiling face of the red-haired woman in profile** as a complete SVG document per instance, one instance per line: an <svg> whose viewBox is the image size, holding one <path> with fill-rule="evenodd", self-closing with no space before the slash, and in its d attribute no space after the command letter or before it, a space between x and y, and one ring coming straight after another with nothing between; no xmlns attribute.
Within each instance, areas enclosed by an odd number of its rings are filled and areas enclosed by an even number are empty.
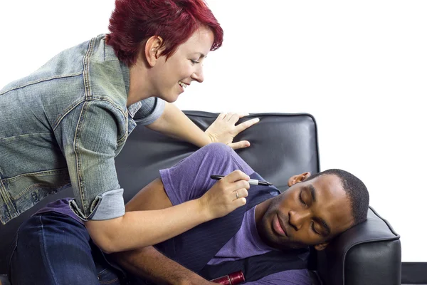
<svg viewBox="0 0 427 285"><path fill-rule="evenodd" d="M160 56L150 71L154 96L172 103L192 81L203 82L203 61L214 43L214 33L201 27L166 60Z"/></svg>

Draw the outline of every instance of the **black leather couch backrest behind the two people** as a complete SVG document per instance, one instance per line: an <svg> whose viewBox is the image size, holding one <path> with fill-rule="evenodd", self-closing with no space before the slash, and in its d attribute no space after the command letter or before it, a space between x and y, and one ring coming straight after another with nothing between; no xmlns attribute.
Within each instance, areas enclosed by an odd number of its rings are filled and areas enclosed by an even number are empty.
<svg viewBox="0 0 427 285"><path fill-rule="evenodd" d="M202 130L218 114L186 111ZM243 118L260 118L260 122L238 135L234 141L248 140L251 147L237 150L243 160L279 190L288 189L288 178L305 171L319 171L315 120L307 114L254 114ZM240 123L240 122L239 122ZM198 148L178 142L143 126L137 126L116 158L120 186L125 201L144 185L159 177L159 169L171 167Z"/></svg>

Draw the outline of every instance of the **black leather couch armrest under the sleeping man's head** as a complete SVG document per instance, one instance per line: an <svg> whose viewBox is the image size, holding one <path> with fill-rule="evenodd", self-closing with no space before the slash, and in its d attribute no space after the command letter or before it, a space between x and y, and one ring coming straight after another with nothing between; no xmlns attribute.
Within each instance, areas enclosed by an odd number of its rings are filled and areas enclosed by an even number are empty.
<svg viewBox="0 0 427 285"><path fill-rule="evenodd" d="M327 285L400 285L400 236L369 207L368 219L336 237L317 254Z"/></svg>

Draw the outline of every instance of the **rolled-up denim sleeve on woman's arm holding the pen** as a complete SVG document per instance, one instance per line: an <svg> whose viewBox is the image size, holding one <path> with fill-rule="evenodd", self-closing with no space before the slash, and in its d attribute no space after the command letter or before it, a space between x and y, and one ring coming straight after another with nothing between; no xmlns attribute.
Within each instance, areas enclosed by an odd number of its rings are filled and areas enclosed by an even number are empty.
<svg viewBox="0 0 427 285"><path fill-rule="evenodd" d="M127 117L111 103L90 100L70 110L55 130L65 155L75 199L70 207L83 220L125 214L115 155L125 143Z"/></svg>

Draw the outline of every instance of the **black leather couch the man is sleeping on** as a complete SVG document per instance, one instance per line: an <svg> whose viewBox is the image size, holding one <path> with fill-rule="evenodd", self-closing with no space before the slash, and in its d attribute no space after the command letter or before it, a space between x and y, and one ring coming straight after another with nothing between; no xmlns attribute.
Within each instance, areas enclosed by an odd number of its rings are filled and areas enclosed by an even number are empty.
<svg viewBox="0 0 427 285"><path fill-rule="evenodd" d="M199 111L185 113L203 130L218 115ZM251 147L237 152L265 180L285 190L291 175L320 171L317 127L311 115L260 113L242 120L250 118L260 118L260 123L238 135L236 140L249 140ZM174 165L195 150L196 147L186 142L137 126L116 159L120 185L125 189L125 201L158 177L159 169ZM7 272L11 241L23 219L48 202L70 195L73 195L70 189L57 193L5 226L0 226L0 274ZM325 251L313 252L310 267L313 285L400 284L399 235L371 208L367 222L341 234Z"/></svg>

